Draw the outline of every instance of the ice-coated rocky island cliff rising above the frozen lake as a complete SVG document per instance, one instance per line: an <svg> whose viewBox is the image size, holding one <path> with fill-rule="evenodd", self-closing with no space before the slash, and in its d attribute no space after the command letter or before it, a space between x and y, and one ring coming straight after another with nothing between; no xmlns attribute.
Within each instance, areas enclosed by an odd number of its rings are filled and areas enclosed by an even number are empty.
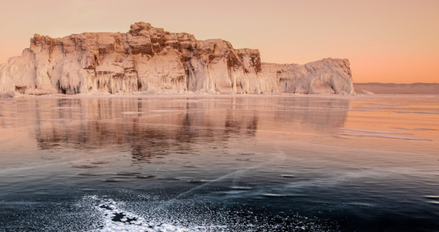
<svg viewBox="0 0 439 232"><path fill-rule="evenodd" d="M0 66L0 93L353 93L348 60L261 63L259 50L135 23L127 33L38 34Z"/></svg>

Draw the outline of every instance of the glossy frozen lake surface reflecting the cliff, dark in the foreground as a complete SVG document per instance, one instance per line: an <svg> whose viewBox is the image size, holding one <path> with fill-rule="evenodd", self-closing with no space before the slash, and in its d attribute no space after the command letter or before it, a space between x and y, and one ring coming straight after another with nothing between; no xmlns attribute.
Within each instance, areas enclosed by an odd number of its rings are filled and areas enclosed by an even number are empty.
<svg viewBox="0 0 439 232"><path fill-rule="evenodd" d="M439 97L0 100L0 231L437 231Z"/></svg>

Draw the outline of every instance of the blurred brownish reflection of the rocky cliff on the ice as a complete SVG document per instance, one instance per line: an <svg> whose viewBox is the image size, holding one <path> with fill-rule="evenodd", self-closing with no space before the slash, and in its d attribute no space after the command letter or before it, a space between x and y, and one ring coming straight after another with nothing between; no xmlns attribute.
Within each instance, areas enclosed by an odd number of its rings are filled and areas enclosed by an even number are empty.
<svg viewBox="0 0 439 232"><path fill-rule="evenodd" d="M36 111L27 111L31 106L18 104L16 113L27 117L21 116L25 121L14 123L25 125L32 119L40 149L68 146L90 150L120 145L139 161L188 153L200 141L226 144L237 136L270 137L272 133L340 128L349 108L346 99L316 97L128 97L32 102L38 106Z"/></svg>

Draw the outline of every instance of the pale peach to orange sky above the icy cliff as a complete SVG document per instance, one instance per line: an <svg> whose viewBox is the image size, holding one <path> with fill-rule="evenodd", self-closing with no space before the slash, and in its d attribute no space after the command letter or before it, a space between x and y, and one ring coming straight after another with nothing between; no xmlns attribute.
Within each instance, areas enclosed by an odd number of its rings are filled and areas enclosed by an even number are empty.
<svg viewBox="0 0 439 232"><path fill-rule="evenodd" d="M3 1L0 63L33 34L128 32L137 21L257 48L263 62L348 58L354 82L439 82L439 1Z"/></svg>

